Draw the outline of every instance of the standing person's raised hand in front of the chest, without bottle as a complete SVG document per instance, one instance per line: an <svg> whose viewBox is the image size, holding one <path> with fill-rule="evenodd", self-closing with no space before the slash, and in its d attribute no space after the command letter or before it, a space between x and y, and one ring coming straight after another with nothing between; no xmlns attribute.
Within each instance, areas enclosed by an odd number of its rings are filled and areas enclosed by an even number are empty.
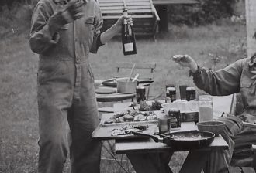
<svg viewBox="0 0 256 173"><path fill-rule="evenodd" d="M64 9L64 17L67 19L67 22L73 22L84 15L82 12L82 5L80 0L71 0L67 3L67 6Z"/></svg>

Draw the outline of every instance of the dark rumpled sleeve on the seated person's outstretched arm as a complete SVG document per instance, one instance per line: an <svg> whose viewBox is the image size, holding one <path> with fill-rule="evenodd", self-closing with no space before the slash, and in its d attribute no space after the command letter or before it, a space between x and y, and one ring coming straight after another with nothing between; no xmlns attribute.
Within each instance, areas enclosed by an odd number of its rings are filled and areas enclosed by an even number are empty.
<svg viewBox="0 0 256 173"><path fill-rule="evenodd" d="M196 73L192 73L192 76L199 89L213 96L225 96L240 92L240 76L243 66L244 59L240 59L216 72L207 68L199 68Z"/></svg>

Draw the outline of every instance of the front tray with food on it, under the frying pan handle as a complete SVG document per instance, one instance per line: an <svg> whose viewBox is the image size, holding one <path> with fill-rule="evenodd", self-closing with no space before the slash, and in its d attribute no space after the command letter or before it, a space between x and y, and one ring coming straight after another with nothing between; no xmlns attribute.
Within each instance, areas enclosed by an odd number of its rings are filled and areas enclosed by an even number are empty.
<svg viewBox="0 0 256 173"><path fill-rule="evenodd" d="M139 124L137 122L130 124L115 124L112 126L102 127L99 125L92 133L92 138L99 140L110 139L130 139L141 138L143 136L134 135L132 132L154 134L157 131L157 122Z"/></svg>

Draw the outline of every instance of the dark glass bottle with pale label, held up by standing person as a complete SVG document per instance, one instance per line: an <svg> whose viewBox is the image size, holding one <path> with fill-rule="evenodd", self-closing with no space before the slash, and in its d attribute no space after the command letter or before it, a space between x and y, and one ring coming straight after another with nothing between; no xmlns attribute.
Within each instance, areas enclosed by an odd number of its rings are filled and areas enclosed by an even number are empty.
<svg viewBox="0 0 256 173"><path fill-rule="evenodd" d="M128 15L127 8L123 8L123 15ZM126 19L123 20L122 26L122 43L123 43L123 55L137 54L135 35L133 28L127 23Z"/></svg>

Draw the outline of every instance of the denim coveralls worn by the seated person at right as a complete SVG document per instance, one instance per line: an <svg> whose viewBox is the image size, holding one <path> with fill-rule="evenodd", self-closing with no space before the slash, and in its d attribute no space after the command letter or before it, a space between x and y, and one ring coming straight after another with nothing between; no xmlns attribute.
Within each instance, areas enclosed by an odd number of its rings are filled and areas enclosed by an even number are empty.
<svg viewBox="0 0 256 173"><path fill-rule="evenodd" d="M225 96L232 93L241 93L244 104L244 113L237 116L223 117L226 123L221 133L229 150L214 152L210 156L207 171L228 172L230 165L251 166L253 152L251 144L256 144L256 130L243 127L242 120L254 123L256 120L256 63L255 56L251 59L240 59L223 70L213 72L206 68L199 68L192 74L193 80L199 89L214 96Z"/></svg>

